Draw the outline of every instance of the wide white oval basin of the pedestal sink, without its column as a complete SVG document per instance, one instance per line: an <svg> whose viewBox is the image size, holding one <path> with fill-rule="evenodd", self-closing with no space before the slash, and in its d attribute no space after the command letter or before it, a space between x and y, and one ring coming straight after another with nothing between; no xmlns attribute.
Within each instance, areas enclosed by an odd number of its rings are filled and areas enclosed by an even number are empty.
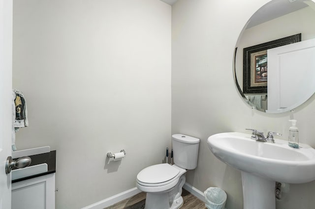
<svg viewBox="0 0 315 209"><path fill-rule="evenodd" d="M315 150L307 144L294 149L284 140L259 142L251 134L237 132L215 134L207 142L216 157L239 170L276 182L315 180Z"/></svg>

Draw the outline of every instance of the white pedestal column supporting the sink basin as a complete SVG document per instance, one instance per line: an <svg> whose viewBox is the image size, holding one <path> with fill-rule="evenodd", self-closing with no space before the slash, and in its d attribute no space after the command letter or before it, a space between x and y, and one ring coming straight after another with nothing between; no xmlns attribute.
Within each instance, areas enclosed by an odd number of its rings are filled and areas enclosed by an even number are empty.
<svg viewBox="0 0 315 209"><path fill-rule="evenodd" d="M276 182L242 171L243 209L276 209Z"/></svg>

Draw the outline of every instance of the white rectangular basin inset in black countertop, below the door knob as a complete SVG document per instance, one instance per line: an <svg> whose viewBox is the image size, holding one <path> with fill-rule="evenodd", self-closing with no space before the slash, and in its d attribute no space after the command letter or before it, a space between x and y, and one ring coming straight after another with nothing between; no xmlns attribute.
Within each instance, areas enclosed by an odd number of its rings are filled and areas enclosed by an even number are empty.
<svg viewBox="0 0 315 209"><path fill-rule="evenodd" d="M12 181L16 179L21 179L24 177L45 173L48 171L47 163L42 163L38 165L29 166L26 168L20 168L12 170Z"/></svg>

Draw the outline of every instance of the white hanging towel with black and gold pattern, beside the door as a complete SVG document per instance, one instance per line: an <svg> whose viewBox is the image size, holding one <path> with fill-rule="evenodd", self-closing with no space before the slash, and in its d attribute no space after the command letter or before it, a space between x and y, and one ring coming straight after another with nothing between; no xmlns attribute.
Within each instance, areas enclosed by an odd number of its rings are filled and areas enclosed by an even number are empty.
<svg viewBox="0 0 315 209"><path fill-rule="evenodd" d="M23 92L17 89L12 90L12 122L12 151L16 151L15 132L29 126L26 100Z"/></svg>

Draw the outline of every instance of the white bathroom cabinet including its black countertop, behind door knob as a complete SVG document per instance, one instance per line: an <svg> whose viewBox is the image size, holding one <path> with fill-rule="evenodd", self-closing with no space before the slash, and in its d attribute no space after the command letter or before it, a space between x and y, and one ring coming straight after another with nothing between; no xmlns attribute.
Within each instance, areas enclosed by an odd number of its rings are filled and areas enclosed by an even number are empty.
<svg viewBox="0 0 315 209"><path fill-rule="evenodd" d="M29 150L20 152L23 153L14 154L15 157L29 156L32 159L30 166L22 169L33 171L35 166L47 166L45 172L31 174L18 169L20 173L29 175L19 175L19 178L15 175L15 178L12 178L11 209L55 209L56 151L48 150L35 155L30 155ZM12 169L12 176L14 169L16 168Z"/></svg>

